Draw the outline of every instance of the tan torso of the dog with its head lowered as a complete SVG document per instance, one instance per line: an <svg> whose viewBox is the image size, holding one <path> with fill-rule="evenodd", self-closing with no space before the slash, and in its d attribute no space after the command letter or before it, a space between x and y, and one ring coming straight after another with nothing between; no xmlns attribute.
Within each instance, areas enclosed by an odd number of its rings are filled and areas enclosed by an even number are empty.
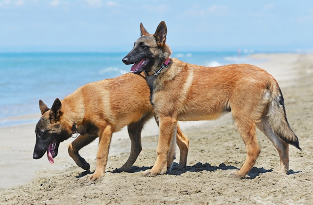
<svg viewBox="0 0 313 205"><path fill-rule="evenodd" d="M135 95L132 95L134 92ZM145 113L151 115L149 95L149 88L142 76L126 73L117 78L91 82L79 87L61 101L64 105L62 110L64 115L70 110L79 110L80 117L94 123L96 127L101 127L97 123L105 119L108 123L116 125L116 132L136 122ZM67 108L70 110L66 111Z"/></svg>

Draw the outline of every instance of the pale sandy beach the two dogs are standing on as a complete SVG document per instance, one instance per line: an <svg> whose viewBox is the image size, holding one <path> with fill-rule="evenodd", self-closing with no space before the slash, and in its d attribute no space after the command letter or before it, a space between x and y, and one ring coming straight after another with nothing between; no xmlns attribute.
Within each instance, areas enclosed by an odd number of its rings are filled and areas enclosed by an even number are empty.
<svg viewBox="0 0 313 205"><path fill-rule="evenodd" d="M289 175L278 172L278 153L258 130L261 153L248 176L227 175L245 159L244 144L230 113L215 121L179 122L190 141L187 167L177 168L177 149L172 172L153 178L143 177L142 172L156 159L156 123L152 120L145 126L143 149L132 173L113 172L127 160L130 150L126 129L113 134L105 176L95 182L68 156L72 139L60 144L54 164L45 155L33 160L35 124L31 123L0 128L0 204L313 204L313 54L250 57L278 81L288 122L303 150L289 146ZM22 117L39 119L39 108L37 114ZM96 149L97 140L80 151L91 171Z"/></svg>

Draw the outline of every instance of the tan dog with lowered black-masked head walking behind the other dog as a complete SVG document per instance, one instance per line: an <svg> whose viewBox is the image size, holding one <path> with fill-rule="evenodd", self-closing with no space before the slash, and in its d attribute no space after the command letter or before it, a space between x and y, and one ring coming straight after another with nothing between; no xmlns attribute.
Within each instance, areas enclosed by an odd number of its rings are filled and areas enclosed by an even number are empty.
<svg viewBox="0 0 313 205"><path fill-rule="evenodd" d="M42 116L35 128L33 159L39 159L47 152L49 162L53 163L59 143L71 137L73 133L79 133L68 146L68 154L79 167L89 171L89 164L78 151L99 137L96 168L90 177L91 180L99 179L104 175L112 133L128 125L130 155L118 171L129 171L141 151L140 135L143 125L153 116L149 95L150 90L144 77L127 73L116 78L88 83L62 101L55 99L51 109L39 100ZM188 139L177 128L180 167L186 166L188 143ZM175 155L174 148L175 144L171 148L171 162Z"/></svg>

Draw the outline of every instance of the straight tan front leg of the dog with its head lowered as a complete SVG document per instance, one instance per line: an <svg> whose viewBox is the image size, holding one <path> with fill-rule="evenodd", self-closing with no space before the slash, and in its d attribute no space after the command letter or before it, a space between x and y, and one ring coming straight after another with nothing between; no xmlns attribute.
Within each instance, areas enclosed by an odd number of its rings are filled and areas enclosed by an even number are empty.
<svg viewBox="0 0 313 205"><path fill-rule="evenodd" d="M97 180L104 176L108 149L111 143L113 128L111 125L107 125L105 126L104 130L100 129L98 133L99 133L99 145L98 151L96 153L96 167L94 173L90 177L90 180Z"/></svg>

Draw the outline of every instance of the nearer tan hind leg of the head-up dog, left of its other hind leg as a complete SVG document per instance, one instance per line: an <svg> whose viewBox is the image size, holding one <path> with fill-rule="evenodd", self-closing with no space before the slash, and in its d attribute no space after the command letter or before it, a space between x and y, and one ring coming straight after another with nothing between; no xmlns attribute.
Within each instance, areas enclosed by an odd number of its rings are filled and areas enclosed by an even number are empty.
<svg viewBox="0 0 313 205"><path fill-rule="evenodd" d="M244 109L242 109L244 110ZM240 113L240 115L238 115ZM260 153L260 148L255 137L255 123L254 120L249 118L247 114L233 112L234 123L237 127L238 132L244 142L246 149L245 162L238 172L231 172L230 175L235 175L240 178L244 178L249 170L253 167L258 154Z"/></svg>

